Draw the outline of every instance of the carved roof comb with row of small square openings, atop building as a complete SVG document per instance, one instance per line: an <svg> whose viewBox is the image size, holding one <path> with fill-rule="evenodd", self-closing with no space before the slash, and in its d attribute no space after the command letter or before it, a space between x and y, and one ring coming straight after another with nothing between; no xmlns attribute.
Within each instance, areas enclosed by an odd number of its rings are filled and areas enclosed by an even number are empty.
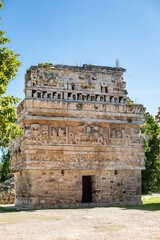
<svg viewBox="0 0 160 240"><path fill-rule="evenodd" d="M126 104L123 68L83 65L31 66L25 97L59 101Z"/></svg>

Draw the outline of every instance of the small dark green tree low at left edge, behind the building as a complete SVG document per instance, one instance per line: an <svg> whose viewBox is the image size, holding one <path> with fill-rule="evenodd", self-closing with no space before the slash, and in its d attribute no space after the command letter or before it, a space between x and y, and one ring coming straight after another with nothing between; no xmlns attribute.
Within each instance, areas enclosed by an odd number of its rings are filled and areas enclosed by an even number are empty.
<svg viewBox="0 0 160 240"><path fill-rule="evenodd" d="M3 150L0 166L0 182L5 182L10 179L11 175L11 160L10 160L10 149Z"/></svg>

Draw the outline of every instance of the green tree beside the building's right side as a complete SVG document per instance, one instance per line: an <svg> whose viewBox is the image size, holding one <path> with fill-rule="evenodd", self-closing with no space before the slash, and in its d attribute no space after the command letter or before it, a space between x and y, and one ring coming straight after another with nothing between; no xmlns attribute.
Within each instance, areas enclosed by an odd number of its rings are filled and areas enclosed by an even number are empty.
<svg viewBox="0 0 160 240"><path fill-rule="evenodd" d="M159 145L160 127L154 120L153 116L147 117L145 125L141 128L141 132L145 134L145 167L142 171L142 192L156 192L160 189L160 159Z"/></svg>

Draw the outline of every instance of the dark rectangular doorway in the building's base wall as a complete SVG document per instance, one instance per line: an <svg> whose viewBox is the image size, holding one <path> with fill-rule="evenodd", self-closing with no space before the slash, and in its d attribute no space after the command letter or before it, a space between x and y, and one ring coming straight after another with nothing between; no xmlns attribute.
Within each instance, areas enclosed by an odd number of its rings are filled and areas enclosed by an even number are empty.
<svg viewBox="0 0 160 240"><path fill-rule="evenodd" d="M91 176L82 176L82 202L92 202Z"/></svg>

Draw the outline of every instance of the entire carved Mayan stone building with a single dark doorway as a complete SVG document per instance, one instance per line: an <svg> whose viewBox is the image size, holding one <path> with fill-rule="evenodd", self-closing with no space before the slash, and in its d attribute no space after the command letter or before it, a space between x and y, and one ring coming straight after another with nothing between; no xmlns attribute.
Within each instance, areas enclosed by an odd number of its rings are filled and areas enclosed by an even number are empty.
<svg viewBox="0 0 160 240"><path fill-rule="evenodd" d="M123 68L31 66L12 142L16 205L141 203L144 107L127 101Z"/></svg>

